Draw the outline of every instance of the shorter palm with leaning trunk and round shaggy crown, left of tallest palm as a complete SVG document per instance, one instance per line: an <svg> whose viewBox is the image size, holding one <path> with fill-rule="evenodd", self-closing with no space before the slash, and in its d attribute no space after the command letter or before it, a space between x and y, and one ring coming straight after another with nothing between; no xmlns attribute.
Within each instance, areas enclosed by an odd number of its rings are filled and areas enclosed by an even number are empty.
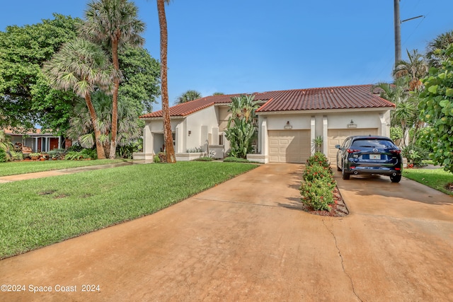
<svg viewBox="0 0 453 302"><path fill-rule="evenodd" d="M111 92L115 70L102 47L87 40L76 38L65 43L43 66L50 85L58 90L72 89L84 98L91 115L96 139L98 158L105 158L105 151L99 138L98 117L91 102L91 93L96 88Z"/></svg>

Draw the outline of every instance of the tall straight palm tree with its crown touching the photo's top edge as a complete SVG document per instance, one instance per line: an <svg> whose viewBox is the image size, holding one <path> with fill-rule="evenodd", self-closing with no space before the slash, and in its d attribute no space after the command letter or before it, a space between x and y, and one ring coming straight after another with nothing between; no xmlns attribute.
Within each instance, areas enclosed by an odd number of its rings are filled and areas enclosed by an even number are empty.
<svg viewBox="0 0 453 302"><path fill-rule="evenodd" d="M120 63L118 47L143 45L140 35L145 28L137 18L137 6L127 0L94 0L85 11L86 22L81 33L93 42L105 43L110 47L113 66L117 71L112 98L112 133L110 136L110 158L115 158L117 146L118 89L120 88Z"/></svg>

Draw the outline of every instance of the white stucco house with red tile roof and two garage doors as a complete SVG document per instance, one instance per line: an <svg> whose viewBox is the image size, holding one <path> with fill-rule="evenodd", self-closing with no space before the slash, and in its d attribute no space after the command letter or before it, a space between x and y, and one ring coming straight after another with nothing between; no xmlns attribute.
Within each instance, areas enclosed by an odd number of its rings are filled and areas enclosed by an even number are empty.
<svg viewBox="0 0 453 302"><path fill-rule="evenodd" d="M224 130L235 95L213 95L170 108L176 159L188 160L189 149L202 147L223 158L229 150ZM394 104L372 93L372 85L295 89L253 93L262 105L258 115L257 154L248 156L262 163L305 163L314 153L316 137L323 138L322 151L336 161L336 144L350 135L390 135L390 111ZM144 120L143 153L134 158L151 160L164 148L162 111Z"/></svg>

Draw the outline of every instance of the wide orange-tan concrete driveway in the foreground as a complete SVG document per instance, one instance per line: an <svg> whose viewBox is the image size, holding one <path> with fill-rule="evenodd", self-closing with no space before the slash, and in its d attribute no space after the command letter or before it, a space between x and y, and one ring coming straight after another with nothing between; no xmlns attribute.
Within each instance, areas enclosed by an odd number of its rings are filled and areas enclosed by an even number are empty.
<svg viewBox="0 0 453 302"><path fill-rule="evenodd" d="M350 215L314 216L299 210L302 168L261 165L156 214L1 260L0 284L25 292L0 300L453 301L451 197L338 174Z"/></svg>

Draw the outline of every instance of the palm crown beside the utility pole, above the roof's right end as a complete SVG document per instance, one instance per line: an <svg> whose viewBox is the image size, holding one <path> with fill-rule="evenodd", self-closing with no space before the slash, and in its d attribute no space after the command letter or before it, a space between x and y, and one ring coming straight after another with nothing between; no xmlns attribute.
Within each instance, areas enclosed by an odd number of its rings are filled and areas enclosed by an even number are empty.
<svg viewBox="0 0 453 302"><path fill-rule="evenodd" d="M418 50L413 50L412 54L406 50L408 54L408 61L401 60L396 64L394 69L394 78L398 79L403 76L409 76L409 89L411 91L418 91L421 86L420 79L428 75L428 64L425 62L423 55Z"/></svg>

